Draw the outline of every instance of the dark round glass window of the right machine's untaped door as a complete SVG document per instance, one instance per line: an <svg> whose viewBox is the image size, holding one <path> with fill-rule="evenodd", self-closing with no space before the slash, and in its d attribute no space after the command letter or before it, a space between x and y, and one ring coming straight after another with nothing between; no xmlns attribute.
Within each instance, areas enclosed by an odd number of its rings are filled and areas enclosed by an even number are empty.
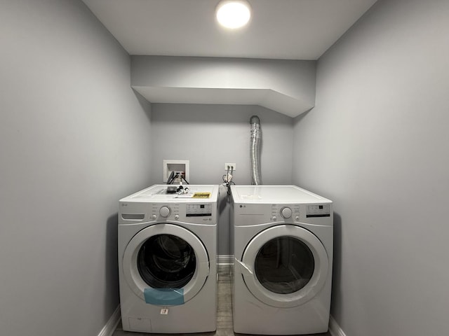
<svg viewBox="0 0 449 336"><path fill-rule="evenodd" d="M255 275L267 290L278 294L295 293L309 283L314 274L314 255L294 237L267 241L255 258Z"/></svg>

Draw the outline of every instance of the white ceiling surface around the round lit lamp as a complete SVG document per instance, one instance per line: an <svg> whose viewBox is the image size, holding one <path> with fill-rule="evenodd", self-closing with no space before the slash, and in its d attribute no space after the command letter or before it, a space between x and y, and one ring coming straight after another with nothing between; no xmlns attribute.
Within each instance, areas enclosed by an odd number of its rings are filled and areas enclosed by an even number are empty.
<svg viewBox="0 0 449 336"><path fill-rule="evenodd" d="M83 0L130 55L319 59L377 0L248 0L250 25L215 22L218 0Z"/></svg>

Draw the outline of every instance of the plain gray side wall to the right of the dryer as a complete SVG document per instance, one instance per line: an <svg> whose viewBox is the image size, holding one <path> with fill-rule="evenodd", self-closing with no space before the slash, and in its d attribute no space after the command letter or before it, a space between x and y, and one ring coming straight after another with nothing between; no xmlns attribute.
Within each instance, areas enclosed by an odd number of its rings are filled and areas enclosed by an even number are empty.
<svg viewBox="0 0 449 336"><path fill-rule="evenodd" d="M348 336L449 330L449 1L379 1L319 60L294 182L335 201Z"/></svg>

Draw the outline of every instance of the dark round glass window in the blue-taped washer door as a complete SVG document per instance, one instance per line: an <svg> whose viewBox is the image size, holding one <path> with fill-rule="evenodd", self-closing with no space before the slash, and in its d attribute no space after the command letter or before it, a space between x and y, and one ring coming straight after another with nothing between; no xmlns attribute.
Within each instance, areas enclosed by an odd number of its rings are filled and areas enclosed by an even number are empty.
<svg viewBox="0 0 449 336"><path fill-rule="evenodd" d="M138 271L152 288L182 288L194 276L194 248L175 235L154 235L140 247Z"/></svg>

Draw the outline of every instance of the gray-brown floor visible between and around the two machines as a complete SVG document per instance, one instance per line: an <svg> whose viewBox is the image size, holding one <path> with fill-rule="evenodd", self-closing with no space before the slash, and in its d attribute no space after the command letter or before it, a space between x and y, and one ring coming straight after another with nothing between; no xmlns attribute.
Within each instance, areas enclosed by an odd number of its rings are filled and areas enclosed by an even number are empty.
<svg viewBox="0 0 449 336"><path fill-rule="evenodd" d="M148 334L145 332L128 332L124 331L121 323L117 326L112 336L148 336L166 334ZM231 298L231 276L229 274L229 267L218 267L218 307L217 307L217 330L214 332L199 332L193 334L170 334L170 335L185 335L185 336L233 336L243 335L235 334L232 328L232 298ZM304 335L307 336L307 335ZM324 334L314 334L310 336L330 336L329 332Z"/></svg>

